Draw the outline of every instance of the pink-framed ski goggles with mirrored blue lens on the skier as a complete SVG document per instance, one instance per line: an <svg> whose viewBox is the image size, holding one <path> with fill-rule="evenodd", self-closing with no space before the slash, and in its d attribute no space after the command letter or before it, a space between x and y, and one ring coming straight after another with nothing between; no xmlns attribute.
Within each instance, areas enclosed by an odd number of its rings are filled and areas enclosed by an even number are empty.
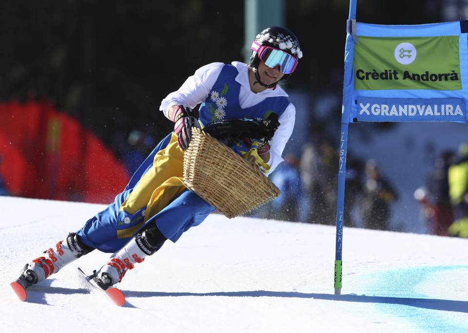
<svg viewBox="0 0 468 333"><path fill-rule="evenodd" d="M283 74L291 74L297 66L296 58L272 46L265 46L254 41L250 49L255 51L258 58L263 60L268 67L274 68L279 65Z"/></svg>

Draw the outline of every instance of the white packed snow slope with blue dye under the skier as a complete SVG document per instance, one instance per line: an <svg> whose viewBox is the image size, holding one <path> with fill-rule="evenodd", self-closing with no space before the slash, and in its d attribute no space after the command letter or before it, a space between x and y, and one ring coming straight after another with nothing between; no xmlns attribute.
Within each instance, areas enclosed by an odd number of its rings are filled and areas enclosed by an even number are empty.
<svg viewBox="0 0 468 333"><path fill-rule="evenodd" d="M78 275L94 251L33 286L9 283L104 206L0 197L0 332L468 332L468 240L212 214L129 271L124 307Z"/></svg>

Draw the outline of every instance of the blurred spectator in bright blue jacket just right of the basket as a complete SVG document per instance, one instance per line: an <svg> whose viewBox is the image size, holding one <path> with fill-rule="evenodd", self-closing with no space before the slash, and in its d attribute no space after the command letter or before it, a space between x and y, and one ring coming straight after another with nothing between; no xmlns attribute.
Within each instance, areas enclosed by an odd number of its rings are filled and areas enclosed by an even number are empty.
<svg viewBox="0 0 468 333"><path fill-rule="evenodd" d="M281 195L273 200L275 219L299 221L302 186L298 158L293 154L286 155L284 163L278 166L271 178L281 191Z"/></svg>

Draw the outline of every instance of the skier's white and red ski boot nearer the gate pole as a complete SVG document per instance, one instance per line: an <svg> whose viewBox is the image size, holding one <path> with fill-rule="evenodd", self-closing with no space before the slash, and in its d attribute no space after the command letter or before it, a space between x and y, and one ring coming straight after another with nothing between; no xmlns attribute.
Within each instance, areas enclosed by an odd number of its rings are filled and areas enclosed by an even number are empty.
<svg viewBox="0 0 468 333"><path fill-rule="evenodd" d="M106 290L117 282L121 282L127 271L133 270L136 263L142 263L145 257L159 250L166 239L157 227L138 233L101 267L96 273L96 283Z"/></svg>

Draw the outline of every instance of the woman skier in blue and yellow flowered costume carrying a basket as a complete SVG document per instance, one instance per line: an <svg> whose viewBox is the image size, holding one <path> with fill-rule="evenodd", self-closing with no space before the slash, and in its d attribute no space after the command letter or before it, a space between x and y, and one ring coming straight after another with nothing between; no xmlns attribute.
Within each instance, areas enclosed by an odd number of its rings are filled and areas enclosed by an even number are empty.
<svg viewBox="0 0 468 333"><path fill-rule="evenodd" d="M181 178L183 153L193 126L227 119L263 120L276 114L280 125L255 156L265 173L273 171L283 160L295 115L288 95L277 83L288 79L302 51L291 31L276 26L258 34L252 50L249 65L210 63L169 94L160 110L175 122L174 131L156 146L111 205L70 233L65 242L59 241L26 264L17 282L27 288L98 249L113 253L95 272L95 281L106 290L167 239L176 242L183 232L203 222L214 208L189 191ZM192 109L200 103L196 119ZM239 145L238 152L249 151L248 141Z"/></svg>

